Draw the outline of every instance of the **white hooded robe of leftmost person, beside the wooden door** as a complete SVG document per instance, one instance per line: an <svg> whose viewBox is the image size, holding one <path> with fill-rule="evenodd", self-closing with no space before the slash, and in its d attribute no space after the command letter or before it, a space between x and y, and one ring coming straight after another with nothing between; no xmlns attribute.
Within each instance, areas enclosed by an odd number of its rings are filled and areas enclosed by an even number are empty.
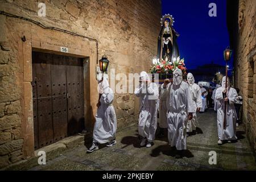
<svg viewBox="0 0 256 182"><path fill-rule="evenodd" d="M104 89L100 98L101 105L98 107L96 122L93 129L93 142L106 143L115 138L117 130L117 118L115 117L112 101L114 93L111 88Z"/></svg>

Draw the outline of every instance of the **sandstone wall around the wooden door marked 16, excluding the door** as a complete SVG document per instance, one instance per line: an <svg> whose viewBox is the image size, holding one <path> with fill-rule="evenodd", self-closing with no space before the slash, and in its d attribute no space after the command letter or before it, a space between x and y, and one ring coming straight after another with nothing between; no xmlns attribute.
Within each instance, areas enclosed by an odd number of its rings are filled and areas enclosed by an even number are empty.
<svg viewBox="0 0 256 182"><path fill-rule="evenodd" d="M0 168L34 156L33 52L83 60L84 118L90 130L97 110L97 60L106 54L108 74L128 77L148 71L157 52L160 0L40 2L46 16L39 16L38 1L0 1ZM134 94L115 94L113 105L118 129L137 121Z"/></svg>

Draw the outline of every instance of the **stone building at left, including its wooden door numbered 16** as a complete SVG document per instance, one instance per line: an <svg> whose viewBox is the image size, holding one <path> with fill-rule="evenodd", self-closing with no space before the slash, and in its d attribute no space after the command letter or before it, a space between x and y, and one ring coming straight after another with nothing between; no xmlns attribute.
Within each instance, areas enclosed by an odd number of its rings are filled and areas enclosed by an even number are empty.
<svg viewBox="0 0 256 182"><path fill-rule="evenodd" d="M160 0L40 2L0 4L0 168L92 130L102 55L108 73L128 77L157 52ZM133 94L115 93L113 105L118 129L137 121Z"/></svg>

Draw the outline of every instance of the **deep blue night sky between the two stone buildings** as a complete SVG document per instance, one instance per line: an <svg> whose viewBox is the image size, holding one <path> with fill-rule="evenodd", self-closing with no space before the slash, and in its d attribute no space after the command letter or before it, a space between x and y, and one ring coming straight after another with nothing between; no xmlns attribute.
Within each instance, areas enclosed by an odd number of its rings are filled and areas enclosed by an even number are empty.
<svg viewBox="0 0 256 182"><path fill-rule="evenodd" d="M216 3L217 17L208 15L209 3ZM223 51L229 46L225 0L162 0L162 14L174 16L180 57L188 69L212 61L225 65Z"/></svg>

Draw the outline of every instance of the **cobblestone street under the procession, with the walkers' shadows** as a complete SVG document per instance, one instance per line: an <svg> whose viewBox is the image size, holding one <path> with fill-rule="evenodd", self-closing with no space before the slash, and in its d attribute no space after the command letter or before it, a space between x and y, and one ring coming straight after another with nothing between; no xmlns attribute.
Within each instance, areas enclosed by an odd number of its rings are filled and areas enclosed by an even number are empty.
<svg viewBox="0 0 256 182"><path fill-rule="evenodd" d="M175 159L167 136L156 138L151 148L140 147L137 125L117 133L117 144L101 146L100 150L86 154L86 146L61 152L39 166L38 158L28 160L10 169L22 170L256 170L253 152L242 126L238 127L237 143L217 144L216 114L209 109L199 114L198 134L187 138L188 150L182 159ZM209 152L216 151L217 164L210 165Z"/></svg>

